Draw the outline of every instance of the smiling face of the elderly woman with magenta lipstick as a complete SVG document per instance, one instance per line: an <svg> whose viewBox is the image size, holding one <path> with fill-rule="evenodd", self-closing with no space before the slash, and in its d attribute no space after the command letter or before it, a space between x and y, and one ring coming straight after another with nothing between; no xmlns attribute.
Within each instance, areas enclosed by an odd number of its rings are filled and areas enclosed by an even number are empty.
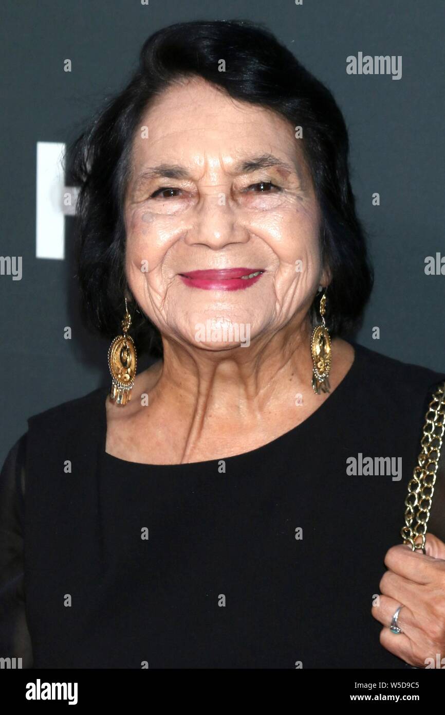
<svg viewBox="0 0 445 715"><path fill-rule="evenodd" d="M194 347L246 346L303 320L325 280L301 139L202 79L166 89L144 115L125 220L134 298Z"/></svg>

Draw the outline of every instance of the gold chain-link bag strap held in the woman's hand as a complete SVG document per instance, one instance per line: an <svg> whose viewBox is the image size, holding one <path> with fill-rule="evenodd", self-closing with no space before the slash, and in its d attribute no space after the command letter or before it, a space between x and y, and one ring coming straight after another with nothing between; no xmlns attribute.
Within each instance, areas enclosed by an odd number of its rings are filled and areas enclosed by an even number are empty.
<svg viewBox="0 0 445 715"><path fill-rule="evenodd" d="M426 524L429 520L444 431L445 382L438 385L429 403L421 438L421 453L409 481L405 499L405 526L400 533L404 543L411 544L413 551L421 550L425 553ZM416 525L413 528L414 518ZM420 541L417 541L418 539Z"/></svg>

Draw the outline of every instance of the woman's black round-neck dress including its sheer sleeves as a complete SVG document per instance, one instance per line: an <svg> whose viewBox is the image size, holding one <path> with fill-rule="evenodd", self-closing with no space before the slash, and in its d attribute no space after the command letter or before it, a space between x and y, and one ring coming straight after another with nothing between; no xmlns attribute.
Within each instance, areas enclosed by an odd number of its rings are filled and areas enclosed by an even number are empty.
<svg viewBox="0 0 445 715"><path fill-rule="evenodd" d="M409 667L380 645L371 605L445 373L351 344L353 365L315 413L219 460L105 453L108 388L29 418L0 476L0 656L36 668ZM445 540L443 456L429 531Z"/></svg>

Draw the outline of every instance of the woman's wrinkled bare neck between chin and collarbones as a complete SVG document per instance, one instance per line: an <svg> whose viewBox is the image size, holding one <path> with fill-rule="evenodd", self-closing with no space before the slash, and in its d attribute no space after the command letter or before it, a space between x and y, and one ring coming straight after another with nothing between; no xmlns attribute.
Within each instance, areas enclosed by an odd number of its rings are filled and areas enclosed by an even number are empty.
<svg viewBox="0 0 445 715"><path fill-rule="evenodd" d="M205 350L164 339L164 364L156 394L175 395L195 414L258 415L294 403L296 393L311 393L311 325L291 320L274 335L262 335L249 347ZM187 410L186 410L187 411Z"/></svg>

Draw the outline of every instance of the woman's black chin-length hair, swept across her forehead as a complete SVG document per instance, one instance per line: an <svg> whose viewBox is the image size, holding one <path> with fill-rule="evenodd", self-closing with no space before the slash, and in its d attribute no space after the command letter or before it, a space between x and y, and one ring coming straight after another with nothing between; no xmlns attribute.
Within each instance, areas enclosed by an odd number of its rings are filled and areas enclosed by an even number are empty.
<svg viewBox="0 0 445 715"><path fill-rule="evenodd" d="M226 71L219 61L226 60ZM78 185L76 275L89 327L112 338L124 317L124 196L136 128L152 99L181 77L202 77L230 97L278 112L303 127L302 147L321 208L321 252L331 270L326 323L331 336L359 327L373 285L364 229L349 181L349 139L334 97L263 26L246 20L181 22L144 42L139 66L91 126L71 144ZM317 322L320 295L311 306ZM134 305L136 304L130 303ZM159 331L132 311L139 352L161 355Z"/></svg>

